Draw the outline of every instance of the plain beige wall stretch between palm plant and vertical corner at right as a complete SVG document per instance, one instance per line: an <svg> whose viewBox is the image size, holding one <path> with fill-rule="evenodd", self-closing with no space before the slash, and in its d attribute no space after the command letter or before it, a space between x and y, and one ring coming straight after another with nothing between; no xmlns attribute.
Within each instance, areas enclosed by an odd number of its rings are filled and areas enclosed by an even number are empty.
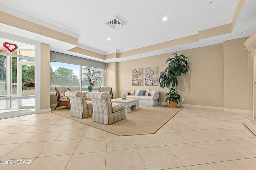
<svg viewBox="0 0 256 170"><path fill-rule="evenodd" d="M185 50L190 69L178 78L182 104L223 107L222 44Z"/></svg>

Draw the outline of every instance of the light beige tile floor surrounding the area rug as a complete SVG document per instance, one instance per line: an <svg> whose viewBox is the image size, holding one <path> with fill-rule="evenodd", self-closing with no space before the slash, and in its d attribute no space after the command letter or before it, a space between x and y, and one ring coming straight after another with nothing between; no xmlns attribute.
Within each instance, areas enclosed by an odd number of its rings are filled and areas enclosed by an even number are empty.
<svg viewBox="0 0 256 170"><path fill-rule="evenodd" d="M156 134L123 137L51 112L1 119L0 169L255 170L246 116L184 107Z"/></svg>

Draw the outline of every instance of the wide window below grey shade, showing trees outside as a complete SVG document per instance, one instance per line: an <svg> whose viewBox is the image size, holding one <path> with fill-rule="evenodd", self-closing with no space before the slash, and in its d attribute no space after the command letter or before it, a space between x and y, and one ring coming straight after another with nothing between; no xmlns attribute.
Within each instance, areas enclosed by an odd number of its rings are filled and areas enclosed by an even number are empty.
<svg viewBox="0 0 256 170"><path fill-rule="evenodd" d="M98 91L102 86L102 69L89 66L79 66L60 62L50 62L50 92L55 93L54 87L66 86L72 91L88 91L89 83L87 76L88 70L94 70L93 91Z"/></svg>

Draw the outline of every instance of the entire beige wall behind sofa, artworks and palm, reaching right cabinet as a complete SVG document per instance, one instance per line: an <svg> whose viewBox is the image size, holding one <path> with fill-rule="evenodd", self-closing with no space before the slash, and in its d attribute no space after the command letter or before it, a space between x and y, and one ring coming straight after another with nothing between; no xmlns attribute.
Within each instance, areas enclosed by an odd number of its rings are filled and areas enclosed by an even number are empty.
<svg viewBox="0 0 256 170"><path fill-rule="evenodd" d="M247 51L242 45L246 38L234 39L217 45L178 51L189 58L190 69L179 77L178 92L184 101L180 104L224 107L248 110ZM166 68L171 53L118 63L117 82L119 95L129 89L154 89L160 91L158 102L164 102L168 89L158 86L132 86L132 69L158 66ZM238 69L239 68L239 69ZM144 84L145 84L145 80ZM240 96L236 95L239 92ZM225 96L225 98L224 98Z"/></svg>

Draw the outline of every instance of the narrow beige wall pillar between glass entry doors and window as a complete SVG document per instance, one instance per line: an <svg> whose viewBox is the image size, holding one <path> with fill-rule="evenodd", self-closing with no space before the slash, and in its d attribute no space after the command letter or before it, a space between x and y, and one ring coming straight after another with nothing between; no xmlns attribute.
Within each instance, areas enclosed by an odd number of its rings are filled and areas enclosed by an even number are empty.
<svg viewBox="0 0 256 170"><path fill-rule="evenodd" d="M50 108L50 45L41 43L41 109Z"/></svg>

